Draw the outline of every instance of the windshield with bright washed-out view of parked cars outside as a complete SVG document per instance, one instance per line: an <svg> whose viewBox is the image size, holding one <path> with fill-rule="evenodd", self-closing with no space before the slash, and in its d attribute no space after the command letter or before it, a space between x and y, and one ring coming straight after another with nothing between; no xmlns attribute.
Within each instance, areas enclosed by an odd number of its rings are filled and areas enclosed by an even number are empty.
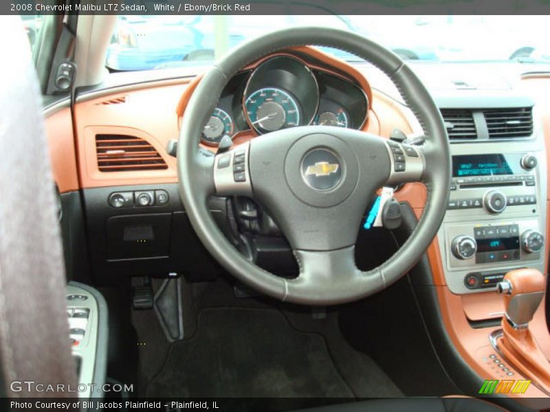
<svg viewBox="0 0 550 412"><path fill-rule="evenodd" d="M107 67L126 71L205 65L245 40L297 25L362 34L405 60L548 64L547 20L547 16L341 16L326 11L316 15L119 16ZM359 60L336 49L321 49L344 60Z"/></svg>

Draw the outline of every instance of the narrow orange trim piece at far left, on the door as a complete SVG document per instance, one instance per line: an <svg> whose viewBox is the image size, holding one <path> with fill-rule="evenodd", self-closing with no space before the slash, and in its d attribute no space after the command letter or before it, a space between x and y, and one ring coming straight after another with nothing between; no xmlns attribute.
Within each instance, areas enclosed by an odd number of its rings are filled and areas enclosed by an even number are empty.
<svg viewBox="0 0 550 412"><path fill-rule="evenodd" d="M59 192L78 190L78 172L74 150L73 122L70 108L63 108L45 119L54 180Z"/></svg>

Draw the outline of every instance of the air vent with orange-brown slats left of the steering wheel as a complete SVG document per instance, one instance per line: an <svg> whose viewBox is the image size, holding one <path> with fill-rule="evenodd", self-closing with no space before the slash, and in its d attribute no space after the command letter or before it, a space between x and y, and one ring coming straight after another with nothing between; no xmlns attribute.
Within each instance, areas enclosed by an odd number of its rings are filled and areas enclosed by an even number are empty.
<svg viewBox="0 0 550 412"><path fill-rule="evenodd" d="M96 152L100 172L168 168L159 152L140 137L96 135Z"/></svg>

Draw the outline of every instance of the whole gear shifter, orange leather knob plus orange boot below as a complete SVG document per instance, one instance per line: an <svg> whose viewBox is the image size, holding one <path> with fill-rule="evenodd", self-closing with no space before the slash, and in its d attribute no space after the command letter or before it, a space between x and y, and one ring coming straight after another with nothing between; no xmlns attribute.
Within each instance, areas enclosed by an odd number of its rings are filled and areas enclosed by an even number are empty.
<svg viewBox="0 0 550 412"><path fill-rule="evenodd" d="M529 330L529 322L544 297L544 276L535 269L511 271L497 284L497 290L504 295L505 306L498 350L521 374L550 392L548 359Z"/></svg>

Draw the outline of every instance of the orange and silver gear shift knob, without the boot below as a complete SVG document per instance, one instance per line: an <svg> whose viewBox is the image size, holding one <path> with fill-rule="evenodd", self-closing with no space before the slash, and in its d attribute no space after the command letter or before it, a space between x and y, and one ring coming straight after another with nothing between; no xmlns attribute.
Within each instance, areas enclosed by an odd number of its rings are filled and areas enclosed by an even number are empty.
<svg viewBox="0 0 550 412"><path fill-rule="evenodd" d="M504 295L506 319L514 329L527 328L544 296L544 277L536 269L508 272L496 285Z"/></svg>

